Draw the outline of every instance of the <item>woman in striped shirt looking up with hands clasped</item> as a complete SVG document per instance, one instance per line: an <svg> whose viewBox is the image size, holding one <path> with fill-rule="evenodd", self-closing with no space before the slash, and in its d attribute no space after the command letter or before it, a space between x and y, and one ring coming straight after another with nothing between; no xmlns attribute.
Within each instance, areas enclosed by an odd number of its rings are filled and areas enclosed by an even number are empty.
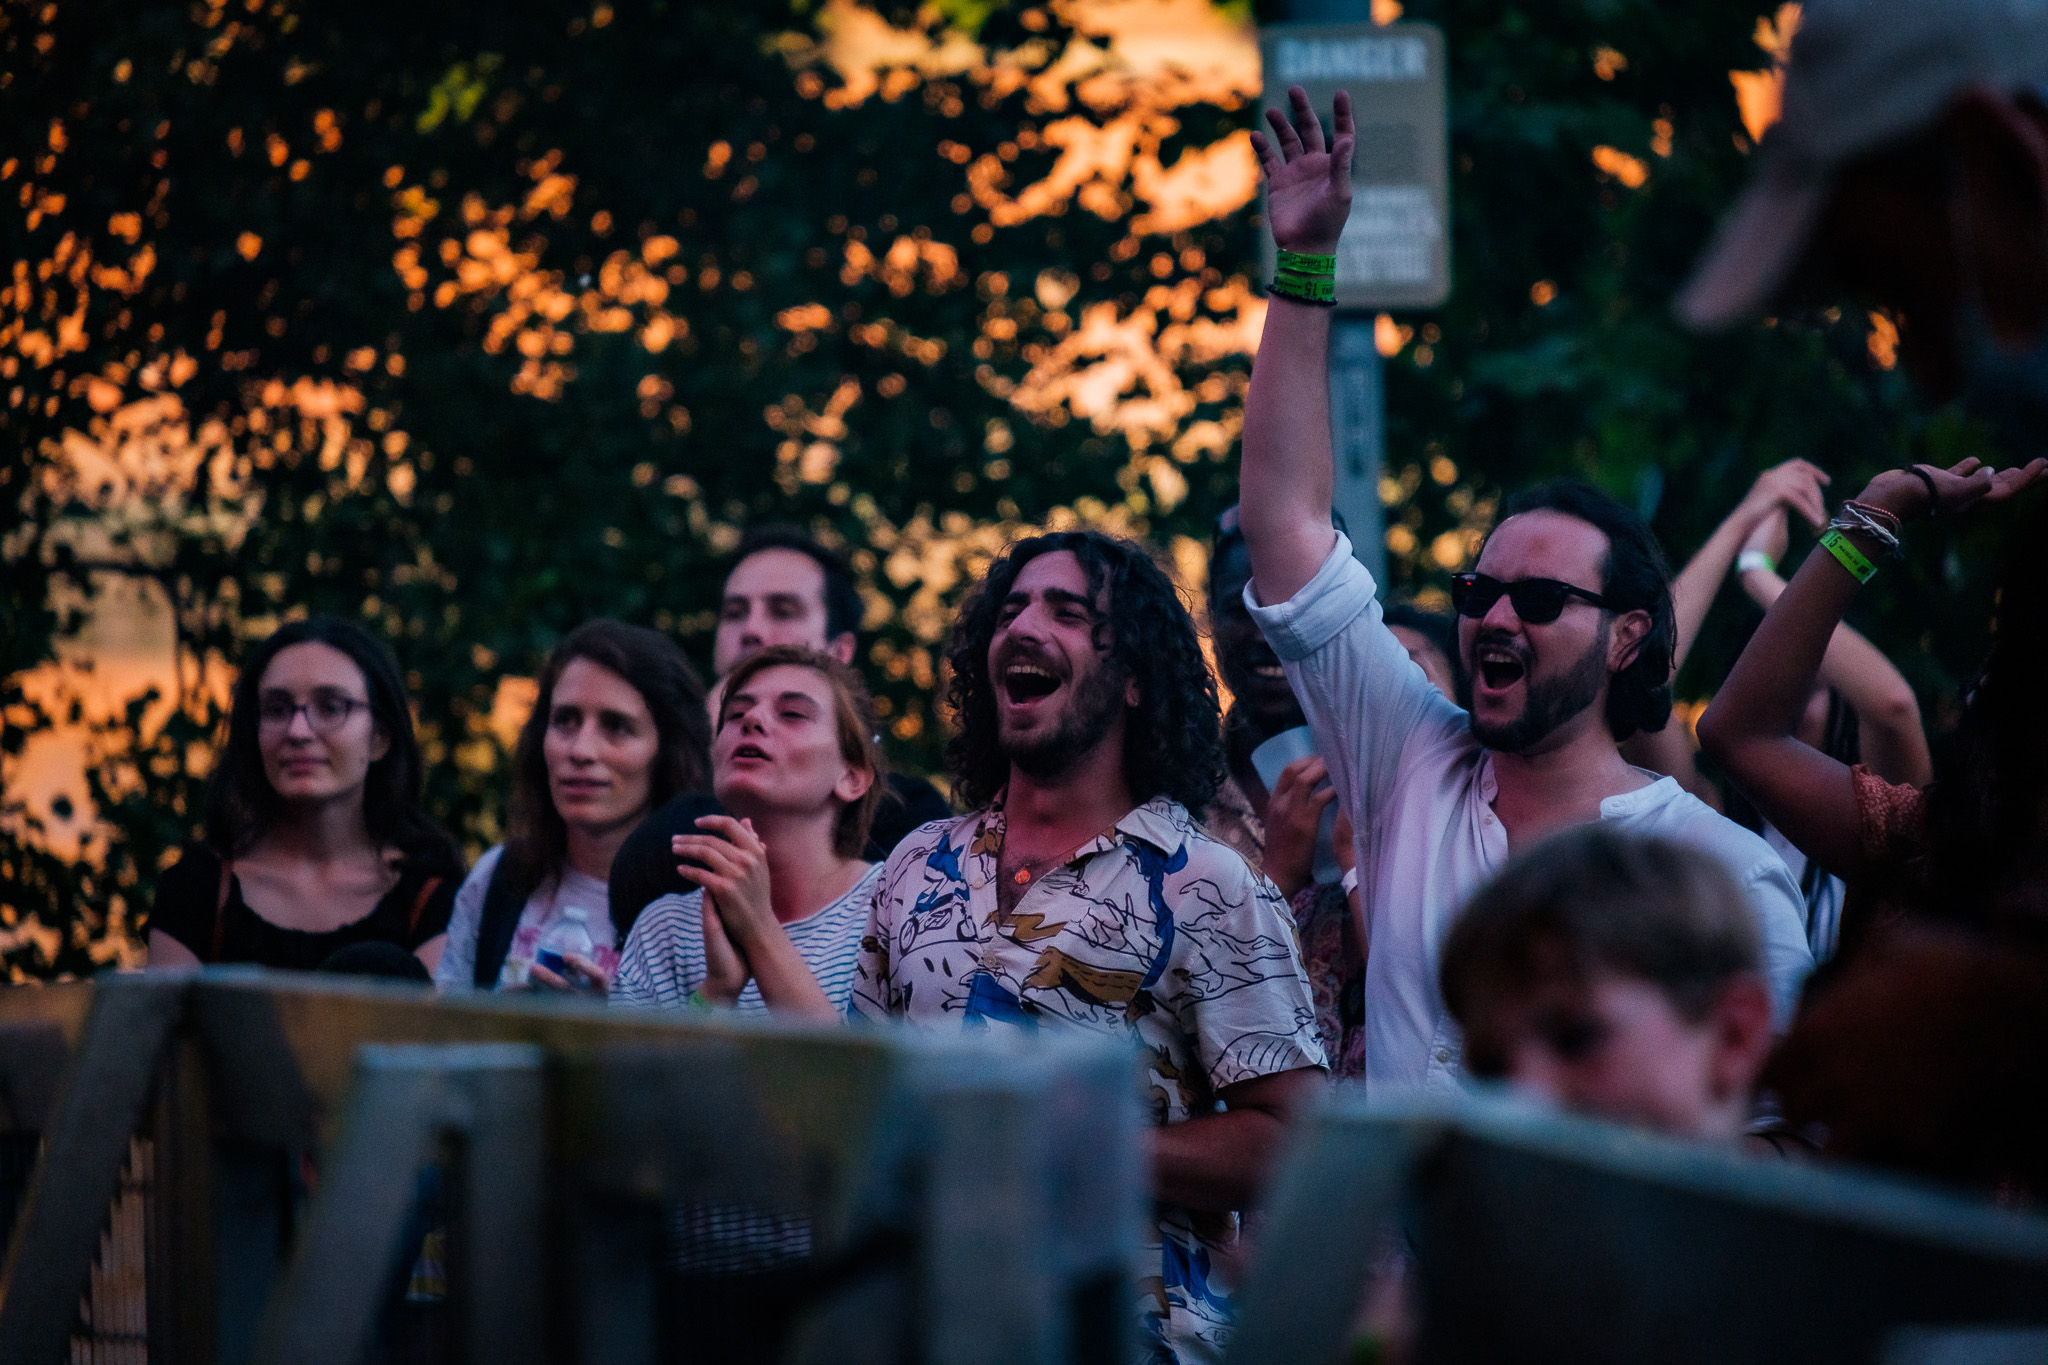
<svg viewBox="0 0 2048 1365"><path fill-rule="evenodd" d="M782 645L731 671L707 814L674 853L700 890L633 925L610 999L840 1019L879 864L860 860L887 776L858 675Z"/></svg>

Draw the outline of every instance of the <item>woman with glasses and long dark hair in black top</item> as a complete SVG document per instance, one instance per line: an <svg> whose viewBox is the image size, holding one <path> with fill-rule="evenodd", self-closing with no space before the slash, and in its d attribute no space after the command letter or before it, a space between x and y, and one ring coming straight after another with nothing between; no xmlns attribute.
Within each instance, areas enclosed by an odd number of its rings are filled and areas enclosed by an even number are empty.
<svg viewBox="0 0 2048 1365"><path fill-rule="evenodd" d="M432 968L463 864L420 808L420 745L391 651L311 616L242 665L207 833L156 888L150 966L313 970L358 943Z"/></svg>

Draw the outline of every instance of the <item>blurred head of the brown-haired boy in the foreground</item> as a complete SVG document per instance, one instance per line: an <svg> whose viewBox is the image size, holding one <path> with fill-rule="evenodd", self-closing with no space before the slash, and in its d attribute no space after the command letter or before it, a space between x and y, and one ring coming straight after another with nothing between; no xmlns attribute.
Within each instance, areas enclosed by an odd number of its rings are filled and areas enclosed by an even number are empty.
<svg viewBox="0 0 2048 1365"><path fill-rule="evenodd" d="M1743 888L1706 853L1585 825L1516 857L1444 943L1473 1076L1735 1140L1772 1046Z"/></svg>

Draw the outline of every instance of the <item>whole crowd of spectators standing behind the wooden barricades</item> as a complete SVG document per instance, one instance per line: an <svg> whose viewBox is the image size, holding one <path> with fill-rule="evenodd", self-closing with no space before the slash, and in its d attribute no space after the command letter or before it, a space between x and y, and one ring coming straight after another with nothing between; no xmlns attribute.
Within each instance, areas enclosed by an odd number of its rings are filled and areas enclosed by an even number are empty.
<svg viewBox="0 0 2048 1365"><path fill-rule="evenodd" d="M1681 315L1898 307L1923 389L2040 448L2048 72L2015 53L2048 53L2048 18L2017 14L1808 6L1784 123ZM244 661L152 966L1128 1038L1157 1361L1217 1359L1239 1216L1329 1078L1505 1083L1759 1158L2048 1193L2048 512L2013 520L1942 765L1913 688L1843 624L1927 518L2009 501L2048 460L1907 465L1833 512L1829 475L1790 460L1677 575L1634 510L1544 483L1452 575L1454 618L1386 602L1329 512L1323 305L1356 139L1343 96L1331 115L1294 90L1255 135L1280 272L1206 622L1143 544L1010 544L952 630L940 794L883 759L846 561L760 528L727 565L711 688L641 626L561 641L508 837L465 876L420 808L391 653L301 620ZM1819 542L1786 579L1794 518ZM1700 718L1708 778L1671 681L1731 571L1761 622ZM807 1254L801 1220L750 1218L672 1209L674 1265Z"/></svg>

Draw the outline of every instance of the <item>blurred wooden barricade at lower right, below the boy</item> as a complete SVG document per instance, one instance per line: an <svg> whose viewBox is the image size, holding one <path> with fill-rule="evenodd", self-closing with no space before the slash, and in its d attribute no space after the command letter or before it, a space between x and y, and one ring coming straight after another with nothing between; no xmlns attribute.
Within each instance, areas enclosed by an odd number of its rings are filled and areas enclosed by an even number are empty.
<svg viewBox="0 0 2048 1365"><path fill-rule="evenodd" d="M1954 1334L2048 1326L2048 1220L1475 1095L1303 1126L1229 1365L1343 1361L1391 1244L1423 1363L2048 1359L2048 1334Z"/></svg>

